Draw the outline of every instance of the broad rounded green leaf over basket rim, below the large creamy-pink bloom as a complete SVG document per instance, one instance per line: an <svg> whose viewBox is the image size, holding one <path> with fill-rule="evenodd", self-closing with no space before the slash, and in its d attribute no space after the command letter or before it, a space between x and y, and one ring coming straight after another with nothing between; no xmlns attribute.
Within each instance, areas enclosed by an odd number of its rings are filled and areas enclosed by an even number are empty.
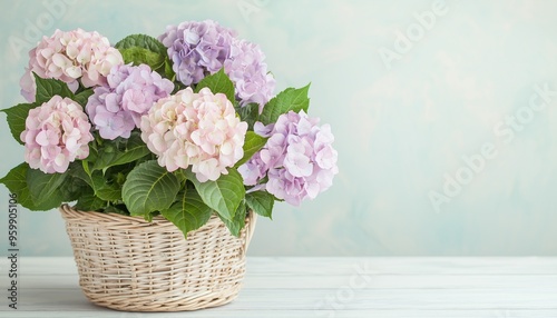
<svg viewBox="0 0 557 318"><path fill-rule="evenodd" d="M121 196L131 216L148 216L168 209L178 190L178 179L156 160L150 160L129 172Z"/></svg>

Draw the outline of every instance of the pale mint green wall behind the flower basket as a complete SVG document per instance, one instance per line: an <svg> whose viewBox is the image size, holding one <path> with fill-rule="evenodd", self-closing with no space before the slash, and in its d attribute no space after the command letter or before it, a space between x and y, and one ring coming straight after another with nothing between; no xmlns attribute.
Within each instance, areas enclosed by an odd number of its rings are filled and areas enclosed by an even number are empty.
<svg viewBox="0 0 557 318"><path fill-rule="evenodd" d="M494 133L506 117L527 111L535 85L557 89L555 1L447 1L448 12L414 33L420 39L390 69L380 48L394 50L399 30L417 31L414 13L434 1L1 3L1 108L23 101L19 78L38 40L29 26L41 19L43 34L79 27L115 43L211 18L262 47L278 89L312 82L310 113L332 125L341 172L314 201L278 203L273 221L260 218L251 255L557 255L557 96L510 142ZM17 39L29 42L26 50L13 48ZM0 117L3 176L23 148ZM495 158L436 211L428 193L441 193L446 173L455 178L462 157L486 143ZM0 254L7 209L2 187ZM56 210L20 209L19 221L23 255L71 254Z"/></svg>

